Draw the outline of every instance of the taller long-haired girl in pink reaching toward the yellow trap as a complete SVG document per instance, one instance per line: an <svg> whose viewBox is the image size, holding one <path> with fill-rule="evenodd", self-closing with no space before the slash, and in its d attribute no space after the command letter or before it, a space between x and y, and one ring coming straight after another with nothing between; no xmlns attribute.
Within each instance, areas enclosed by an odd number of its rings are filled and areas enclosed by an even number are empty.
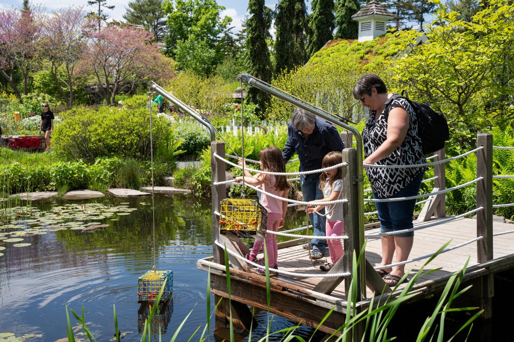
<svg viewBox="0 0 514 342"><path fill-rule="evenodd" d="M256 174L252 176L246 169L245 161L240 158L237 162L238 165L244 166L244 176L235 177L235 182L248 183L255 187L260 187L262 190L273 195L287 198L287 192L290 188L287 183L285 175L269 175L269 174ZM259 165L262 171L270 172L285 172L286 167L284 159L282 158L282 151L276 146L270 146L259 152ZM287 202L285 200L273 198L265 193L259 196L259 202L268 212L268 219L266 223L267 230L278 231L279 228L284 226L284 217L287 210ZM256 264L264 266L264 260L258 259L257 254L263 247L263 243L255 240L253 248L246 258ZM266 234L266 251L268 253L269 268L277 269L277 237L274 234ZM265 274L264 268L259 268L257 273ZM270 276L278 275L277 272L269 272Z"/></svg>

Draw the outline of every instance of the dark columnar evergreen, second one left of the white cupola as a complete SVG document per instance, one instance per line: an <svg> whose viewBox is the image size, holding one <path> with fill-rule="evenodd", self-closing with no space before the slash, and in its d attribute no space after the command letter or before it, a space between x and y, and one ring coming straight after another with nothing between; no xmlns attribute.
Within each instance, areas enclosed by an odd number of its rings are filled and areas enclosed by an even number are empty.
<svg viewBox="0 0 514 342"><path fill-rule="evenodd" d="M310 57L333 39L335 28L334 0L313 0L310 3L309 43L307 55Z"/></svg>

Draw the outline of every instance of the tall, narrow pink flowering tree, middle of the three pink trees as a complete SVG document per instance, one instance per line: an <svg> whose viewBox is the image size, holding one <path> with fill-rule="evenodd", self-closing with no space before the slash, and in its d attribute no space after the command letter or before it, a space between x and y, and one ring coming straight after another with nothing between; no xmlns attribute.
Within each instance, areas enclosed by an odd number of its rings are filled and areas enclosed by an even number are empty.
<svg viewBox="0 0 514 342"><path fill-rule="evenodd" d="M82 9L62 8L43 22L45 58L50 74L68 107L73 106L75 69L87 47L93 27Z"/></svg>

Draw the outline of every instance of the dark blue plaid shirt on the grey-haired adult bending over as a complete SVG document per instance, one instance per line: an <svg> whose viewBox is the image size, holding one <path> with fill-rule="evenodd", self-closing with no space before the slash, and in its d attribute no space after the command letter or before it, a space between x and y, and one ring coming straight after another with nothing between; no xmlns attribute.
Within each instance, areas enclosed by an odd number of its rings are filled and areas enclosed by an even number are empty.
<svg viewBox="0 0 514 342"><path fill-rule="evenodd" d="M298 153L300 159L300 171L310 171L321 169L323 157L332 151L342 151L344 149L343 140L339 136L337 129L331 123L317 117L314 131L307 138L302 132L292 126L289 122L287 126L287 142L282 150L282 156L287 163L292 155ZM302 175L305 177L317 178L320 173Z"/></svg>

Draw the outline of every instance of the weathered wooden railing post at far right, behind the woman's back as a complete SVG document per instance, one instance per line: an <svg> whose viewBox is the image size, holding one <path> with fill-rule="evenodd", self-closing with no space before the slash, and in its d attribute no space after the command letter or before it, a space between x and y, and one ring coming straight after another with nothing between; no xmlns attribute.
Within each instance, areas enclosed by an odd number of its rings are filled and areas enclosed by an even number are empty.
<svg viewBox="0 0 514 342"><path fill-rule="evenodd" d="M479 263L491 260L492 256L492 134L480 133L476 146L483 147L476 152L476 177L484 177L476 183L476 208L483 207L476 214L476 236L483 236L476 242L476 259Z"/></svg>

